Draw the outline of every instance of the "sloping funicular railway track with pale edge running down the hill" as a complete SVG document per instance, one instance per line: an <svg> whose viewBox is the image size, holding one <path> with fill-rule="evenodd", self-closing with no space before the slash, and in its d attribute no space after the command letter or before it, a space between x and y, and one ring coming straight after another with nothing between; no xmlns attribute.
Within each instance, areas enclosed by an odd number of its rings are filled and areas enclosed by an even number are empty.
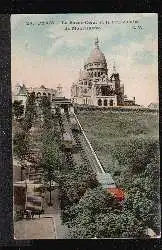
<svg viewBox="0 0 162 250"><path fill-rule="evenodd" d="M95 173L105 173L75 113L59 112L58 117L68 165L73 167L72 159L78 157L84 166L91 168Z"/></svg>

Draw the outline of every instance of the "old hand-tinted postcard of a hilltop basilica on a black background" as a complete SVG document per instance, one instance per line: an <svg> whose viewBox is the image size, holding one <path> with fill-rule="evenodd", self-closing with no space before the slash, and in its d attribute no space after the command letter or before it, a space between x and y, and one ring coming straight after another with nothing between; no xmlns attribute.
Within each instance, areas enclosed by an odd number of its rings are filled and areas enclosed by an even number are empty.
<svg viewBox="0 0 162 250"><path fill-rule="evenodd" d="M14 237L160 238L158 15L11 15Z"/></svg>

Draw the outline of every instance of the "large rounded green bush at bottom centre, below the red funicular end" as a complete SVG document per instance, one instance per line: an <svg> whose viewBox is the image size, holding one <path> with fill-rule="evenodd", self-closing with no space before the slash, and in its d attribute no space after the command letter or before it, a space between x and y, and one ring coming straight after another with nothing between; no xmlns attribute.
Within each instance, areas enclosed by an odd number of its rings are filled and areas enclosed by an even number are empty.
<svg viewBox="0 0 162 250"><path fill-rule="evenodd" d="M67 211L71 238L142 237L144 224L101 187L88 190L77 205Z"/></svg>

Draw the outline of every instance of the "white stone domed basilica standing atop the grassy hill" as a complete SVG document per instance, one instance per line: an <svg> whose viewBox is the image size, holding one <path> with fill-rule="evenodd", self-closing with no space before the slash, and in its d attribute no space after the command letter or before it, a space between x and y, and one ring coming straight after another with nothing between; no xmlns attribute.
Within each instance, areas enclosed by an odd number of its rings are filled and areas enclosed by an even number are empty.
<svg viewBox="0 0 162 250"><path fill-rule="evenodd" d="M84 63L84 69L80 70L78 80L72 84L72 102L105 107L124 106L126 97L124 85L120 82L115 64L111 75L108 71L106 58L99 47L97 38L94 49ZM135 98L131 105L135 105Z"/></svg>

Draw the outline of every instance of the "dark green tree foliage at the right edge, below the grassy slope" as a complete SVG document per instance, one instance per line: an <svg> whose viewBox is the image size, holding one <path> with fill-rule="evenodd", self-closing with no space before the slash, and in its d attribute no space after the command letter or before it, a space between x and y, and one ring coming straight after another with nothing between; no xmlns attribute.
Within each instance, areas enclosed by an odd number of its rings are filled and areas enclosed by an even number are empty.
<svg viewBox="0 0 162 250"><path fill-rule="evenodd" d="M134 175L132 182L125 183L128 190L125 209L132 211L157 234L160 232L159 176L159 158L155 158L145 171Z"/></svg>

